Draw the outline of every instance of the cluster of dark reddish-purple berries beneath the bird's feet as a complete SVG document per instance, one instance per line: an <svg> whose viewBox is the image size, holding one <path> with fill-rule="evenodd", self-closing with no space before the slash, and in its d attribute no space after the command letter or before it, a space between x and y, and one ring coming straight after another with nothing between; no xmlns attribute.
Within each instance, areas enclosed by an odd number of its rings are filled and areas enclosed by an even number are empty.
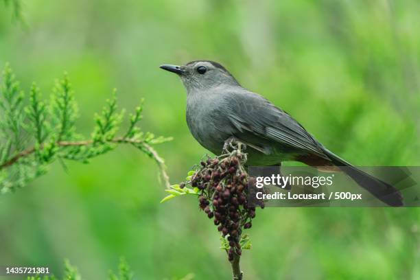
<svg viewBox="0 0 420 280"><path fill-rule="evenodd" d="M248 174L244 170L246 155L238 150L202 161L191 177L191 186L199 191L198 202L207 217L229 241L229 260L241 255L242 229L252 226L255 207L248 207ZM264 205L261 205L264 207Z"/></svg>

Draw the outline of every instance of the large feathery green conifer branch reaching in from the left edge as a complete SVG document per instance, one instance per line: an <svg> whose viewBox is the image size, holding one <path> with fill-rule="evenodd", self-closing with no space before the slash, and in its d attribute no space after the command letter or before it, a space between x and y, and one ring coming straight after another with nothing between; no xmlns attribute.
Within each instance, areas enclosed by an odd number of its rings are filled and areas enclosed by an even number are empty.
<svg viewBox="0 0 420 280"><path fill-rule="evenodd" d="M87 163L89 159L109 152L121 143L141 150L158 163L168 184L163 159L152 145L170 138L154 137L142 132L142 103L130 115L128 130L117 137L124 110L118 110L115 90L101 114L95 115L91 139L84 139L75 130L77 104L67 74L56 82L49 104L42 101L36 84L30 89L29 104L24 104L12 70L6 65L0 86L0 190L1 193L25 186L30 180L47 172L47 165L56 159Z"/></svg>

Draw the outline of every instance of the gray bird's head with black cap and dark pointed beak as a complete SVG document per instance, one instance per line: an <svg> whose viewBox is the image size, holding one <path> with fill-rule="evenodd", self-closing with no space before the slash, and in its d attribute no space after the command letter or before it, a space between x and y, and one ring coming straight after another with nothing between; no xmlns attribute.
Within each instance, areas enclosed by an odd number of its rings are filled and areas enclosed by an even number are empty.
<svg viewBox="0 0 420 280"><path fill-rule="evenodd" d="M188 92L220 85L239 86L226 68L210 60L195 60L182 66L161 65L161 69L178 74Z"/></svg>

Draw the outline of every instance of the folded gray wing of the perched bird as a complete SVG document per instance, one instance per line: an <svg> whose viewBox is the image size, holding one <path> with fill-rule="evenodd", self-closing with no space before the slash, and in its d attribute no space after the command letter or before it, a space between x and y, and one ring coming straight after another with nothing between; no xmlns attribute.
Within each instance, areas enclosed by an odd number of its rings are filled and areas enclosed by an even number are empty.
<svg viewBox="0 0 420 280"><path fill-rule="evenodd" d="M224 95L224 102L230 109L226 117L236 130L232 131L233 135L250 132L257 137L327 158L322 145L303 126L261 95L249 91L229 93Z"/></svg>

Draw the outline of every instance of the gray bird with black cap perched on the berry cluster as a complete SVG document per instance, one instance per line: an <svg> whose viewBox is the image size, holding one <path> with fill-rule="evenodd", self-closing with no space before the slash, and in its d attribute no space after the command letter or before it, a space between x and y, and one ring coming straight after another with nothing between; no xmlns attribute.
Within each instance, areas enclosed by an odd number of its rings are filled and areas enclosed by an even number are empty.
<svg viewBox="0 0 420 280"><path fill-rule="evenodd" d="M398 189L325 148L284 110L241 86L220 63L194 60L160 68L182 80L187 126L213 154L220 154L229 141L240 141L248 147L248 166L281 167L283 161L299 161L323 172L342 171L387 205L404 205Z"/></svg>

